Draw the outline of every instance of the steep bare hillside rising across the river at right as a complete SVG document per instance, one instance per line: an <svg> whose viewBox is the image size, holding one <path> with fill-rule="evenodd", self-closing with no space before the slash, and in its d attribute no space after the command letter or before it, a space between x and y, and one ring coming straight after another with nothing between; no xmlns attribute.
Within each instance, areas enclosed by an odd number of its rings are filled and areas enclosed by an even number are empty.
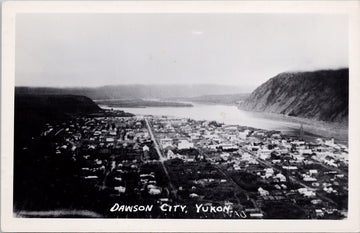
<svg viewBox="0 0 360 233"><path fill-rule="evenodd" d="M349 70L281 73L255 89L240 104L250 111L346 123Z"/></svg>

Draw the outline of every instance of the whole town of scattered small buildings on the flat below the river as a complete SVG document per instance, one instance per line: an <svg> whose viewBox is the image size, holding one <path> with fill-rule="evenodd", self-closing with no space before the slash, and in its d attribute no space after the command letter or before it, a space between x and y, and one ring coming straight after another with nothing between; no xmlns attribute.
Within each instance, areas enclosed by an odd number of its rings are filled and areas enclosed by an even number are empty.
<svg viewBox="0 0 360 233"><path fill-rule="evenodd" d="M86 206L104 217L347 217L348 149L334 139L146 115L48 123L37 140L72 163ZM131 205L154 208L119 211ZM173 206L187 208L163 211Z"/></svg>

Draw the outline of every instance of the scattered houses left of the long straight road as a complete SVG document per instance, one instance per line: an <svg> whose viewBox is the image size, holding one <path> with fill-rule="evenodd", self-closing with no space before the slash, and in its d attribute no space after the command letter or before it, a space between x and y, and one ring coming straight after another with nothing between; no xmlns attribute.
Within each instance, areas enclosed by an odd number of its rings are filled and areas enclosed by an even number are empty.
<svg viewBox="0 0 360 233"><path fill-rule="evenodd" d="M151 157L153 142L143 119L75 118L57 125L47 124L41 136L53 138L56 155L71 156L81 166L80 177L100 189L125 194L130 190L124 174L134 173L140 176L139 190L146 190L150 195L162 192L153 173L140 174L143 164L158 159Z"/></svg>

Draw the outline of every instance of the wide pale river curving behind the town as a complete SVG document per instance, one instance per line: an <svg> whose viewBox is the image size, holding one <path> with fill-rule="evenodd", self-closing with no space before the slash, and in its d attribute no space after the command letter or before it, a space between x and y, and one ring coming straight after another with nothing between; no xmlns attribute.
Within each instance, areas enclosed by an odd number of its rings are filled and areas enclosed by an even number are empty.
<svg viewBox="0 0 360 233"><path fill-rule="evenodd" d="M192 103L193 107L146 107L146 108L116 108L135 115L173 116L194 120L217 121L230 125L249 126L265 130L278 130L288 135L298 135L301 123L305 134L312 136L334 137L347 141L347 129L331 124L305 120L294 117L284 117L278 114L253 113L238 109L231 105L210 105ZM100 106L102 108L109 108Z"/></svg>

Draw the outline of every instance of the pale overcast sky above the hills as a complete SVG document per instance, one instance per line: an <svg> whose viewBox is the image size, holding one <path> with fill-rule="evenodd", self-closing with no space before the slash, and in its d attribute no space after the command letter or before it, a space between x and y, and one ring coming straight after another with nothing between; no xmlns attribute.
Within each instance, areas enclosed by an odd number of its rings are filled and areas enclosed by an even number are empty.
<svg viewBox="0 0 360 233"><path fill-rule="evenodd" d="M345 15L18 14L16 86L225 84L348 66Z"/></svg>

